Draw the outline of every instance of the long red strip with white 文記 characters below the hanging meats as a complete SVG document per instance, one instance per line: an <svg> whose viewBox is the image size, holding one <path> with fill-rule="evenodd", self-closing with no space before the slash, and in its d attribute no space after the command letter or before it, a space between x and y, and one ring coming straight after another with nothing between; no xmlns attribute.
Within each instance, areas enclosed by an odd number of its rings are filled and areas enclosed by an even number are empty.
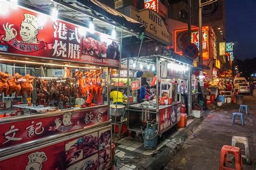
<svg viewBox="0 0 256 170"><path fill-rule="evenodd" d="M107 107L0 124L0 148L83 129L108 121Z"/></svg>

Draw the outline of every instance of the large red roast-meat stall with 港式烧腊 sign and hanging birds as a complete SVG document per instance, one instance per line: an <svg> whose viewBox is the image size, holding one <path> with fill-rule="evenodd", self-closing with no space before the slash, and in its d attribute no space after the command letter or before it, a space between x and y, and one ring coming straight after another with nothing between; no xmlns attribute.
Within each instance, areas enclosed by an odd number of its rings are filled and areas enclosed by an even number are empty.
<svg viewBox="0 0 256 170"><path fill-rule="evenodd" d="M101 24L100 29L105 26L105 33L88 29L88 23L77 18L72 22L71 15L93 17L88 8L81 10L80 3L78 9L70 3L52 2L64 13L55 21L30 10L34 4L29 1L23 3L26 8L18 6L0 16L4 24L0 27L0 83L4 85L0 89L5 103L0 118L0 169L110 168L114 152L110 68L120 66L122 36L133 33L125 23L118 27L115 20L119 38L108 36L106 31L113 25L98 16L94 22ZM89 9L102 5L86 3ZM93 13L99 13L97 8ZM10 105L10 96L25 103Z"/></svg>

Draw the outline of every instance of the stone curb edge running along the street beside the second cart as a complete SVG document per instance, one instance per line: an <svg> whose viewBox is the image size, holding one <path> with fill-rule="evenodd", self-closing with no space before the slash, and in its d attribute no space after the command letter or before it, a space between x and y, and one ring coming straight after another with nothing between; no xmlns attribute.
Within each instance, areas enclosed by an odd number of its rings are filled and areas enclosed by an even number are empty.
<svg viewBox="0 0 256 170"><path fill-rule="evenodd" d="M188 125L186 128L181 130L179 133L176 134L174 138L180 138L182 140L181 143L178 143L177 146L172 150L170 147L164 147L163 150L157 154L155 157L149 157L145 159L145 162L142 164L144 169L161 169L164 167L167 162L180 150L183 143L186 139L191 136L194 130L204 121L204 119L208 116L210 111L206 111L203 118L194 119L194 121ZM172 139L174 139L172 138ZM170 139L170 138L169 138Z"/></svg>

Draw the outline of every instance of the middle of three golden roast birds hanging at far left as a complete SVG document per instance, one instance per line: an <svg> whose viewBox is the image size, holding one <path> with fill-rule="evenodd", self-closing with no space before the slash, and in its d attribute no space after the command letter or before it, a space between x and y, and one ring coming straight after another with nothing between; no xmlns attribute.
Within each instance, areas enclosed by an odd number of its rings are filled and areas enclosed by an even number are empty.
<svg viewBox="0 0 256 170"><path fill-rule="evenodd" d="M8 81L9 84L9 90L8 95L11 95L15 92L15 97L18 97L19 91L21 91L21 84L19 83L18 79L22 77L21 74L15 73L14 76L11 77L11 79Z"/></svg>

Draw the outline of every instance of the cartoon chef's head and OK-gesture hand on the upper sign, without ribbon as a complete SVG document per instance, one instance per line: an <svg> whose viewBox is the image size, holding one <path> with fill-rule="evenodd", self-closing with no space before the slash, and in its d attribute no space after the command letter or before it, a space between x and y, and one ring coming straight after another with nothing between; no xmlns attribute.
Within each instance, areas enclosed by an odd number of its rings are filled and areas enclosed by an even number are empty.
<svg viewBox="0 0 256 170"><path fill-rule="evenodd" d="M12 27L14 24L10 24L7 22L3 24L3 28L5 31L5 37L3 40L10 41L11 39L16 38L17 31ZM39 24L38 19L36 16L33 16L29 13L24 14L24 20L21 23L19 30L19 35L22 38L24 43L31 43L31 44L38 44L39 41L37 40L38 30L43 30L43 26Z"/></svg>

